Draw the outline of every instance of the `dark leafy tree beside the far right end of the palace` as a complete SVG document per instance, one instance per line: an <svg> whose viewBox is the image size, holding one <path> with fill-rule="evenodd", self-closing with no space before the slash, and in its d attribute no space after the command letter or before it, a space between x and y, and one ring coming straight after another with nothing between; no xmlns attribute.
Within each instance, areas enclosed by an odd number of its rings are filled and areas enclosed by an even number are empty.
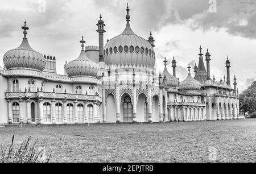
<svg viewBox="0 0 256 174"><path fill-rule="evenodd" d="M253 114L256 111L256 81L253 82L240 96L240 111Z"/></svg>

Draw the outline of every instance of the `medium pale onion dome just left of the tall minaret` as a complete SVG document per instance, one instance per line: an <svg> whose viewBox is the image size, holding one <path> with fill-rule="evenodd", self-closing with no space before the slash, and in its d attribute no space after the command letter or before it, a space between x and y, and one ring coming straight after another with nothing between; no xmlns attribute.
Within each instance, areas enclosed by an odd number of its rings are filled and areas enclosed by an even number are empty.
<svg viewBox="0 0 256 174"><path fill-rule="evenodd" d="M67 74L69 77L75 77L75 76L92 76L92 77L98 77L98 71L100 70L100 67L97 63L90 60L84 51L84 37L82 36L82 40L80 41L82 43L82 50L80 53L80 56L77 57L76 60L72 60L69 62L65 68Z"/></svg>

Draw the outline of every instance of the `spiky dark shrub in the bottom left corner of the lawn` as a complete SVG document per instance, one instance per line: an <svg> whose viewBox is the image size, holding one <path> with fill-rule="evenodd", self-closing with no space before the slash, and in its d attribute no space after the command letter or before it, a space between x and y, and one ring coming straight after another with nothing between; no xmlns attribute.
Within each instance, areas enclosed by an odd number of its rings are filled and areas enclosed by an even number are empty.
<svg viewBox="0 0 256 174"><path fill-rule="evenodd" d="M3 142L1 143L0 150L0 163L48 163L51 158L51 153L48 158L44 148L36 147L38 138L30 145L31 136L27 140L19 144L14 145L14 135L11 140L11 145L3 148Z"/></svg>

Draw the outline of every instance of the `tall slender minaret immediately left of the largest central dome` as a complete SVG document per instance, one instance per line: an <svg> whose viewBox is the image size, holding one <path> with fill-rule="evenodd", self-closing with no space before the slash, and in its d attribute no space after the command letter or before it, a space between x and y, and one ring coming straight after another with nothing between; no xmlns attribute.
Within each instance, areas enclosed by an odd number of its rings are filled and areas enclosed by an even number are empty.
<svg viewBox="0 0 256 174"><path fill-rule="evenodd" d="M104 63L104 32L106 32L104 30L104 27L106 26L104 24L104 21L101 19L102 16L100 15L100 20L98 20L97 26L98 26L98 40L99 40L99 51L100 51L100 55L99 55L99 63Z"/></svg>

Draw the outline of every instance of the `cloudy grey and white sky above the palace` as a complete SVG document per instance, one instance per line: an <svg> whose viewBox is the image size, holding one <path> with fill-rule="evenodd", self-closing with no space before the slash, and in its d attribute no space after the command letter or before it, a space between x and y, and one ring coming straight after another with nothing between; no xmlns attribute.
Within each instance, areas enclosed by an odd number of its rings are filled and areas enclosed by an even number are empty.
<svg viewBox="0 0 256 174"><path fill-rule="evenodd" d="M45 2L45 3L44 3ZM232 79L245 89L256 77L256 0L0 0L0 55L18 47L27 20L32 48L57 59L57 72L64 73L65 61L80 53L79 40L98 45L100 13L106 24L106 39L125 28L129 2L131 27L147 39L155 38L156 68L162 71L164 57L176 57L177 76L184 80L188 64L198 63L200 45L212 55L211 76L226 74L225 60L231 61ZM3 61L0 61L3 67ZM168 67L171 71L171 67Z"/></svg>

